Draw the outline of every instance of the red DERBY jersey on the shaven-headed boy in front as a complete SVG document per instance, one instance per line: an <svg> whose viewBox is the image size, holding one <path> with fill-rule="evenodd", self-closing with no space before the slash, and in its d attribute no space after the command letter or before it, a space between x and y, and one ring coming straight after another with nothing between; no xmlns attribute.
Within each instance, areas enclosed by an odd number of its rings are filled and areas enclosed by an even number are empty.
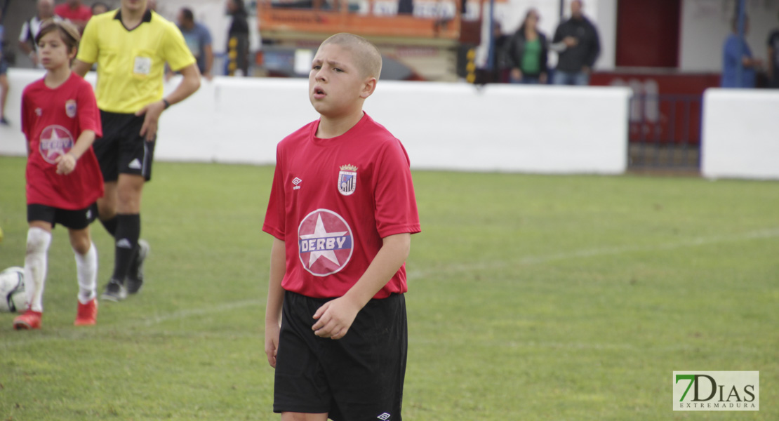
<svg viewBox="0 0 779 421"><path fill-rule="evenodd" d="M333 139L315 137L318 127L313 121L279 143L263 231L286 246L281 286L328 298L360 279L383 237L420 226L399 140L368 114ZM407 289L403 265L374 298Z"/></svg>

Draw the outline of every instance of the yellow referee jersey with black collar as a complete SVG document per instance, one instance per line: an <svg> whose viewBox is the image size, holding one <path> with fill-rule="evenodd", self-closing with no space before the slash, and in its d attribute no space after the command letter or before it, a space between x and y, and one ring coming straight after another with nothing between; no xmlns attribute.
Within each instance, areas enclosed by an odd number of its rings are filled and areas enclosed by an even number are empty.
<svg viewBox="0 0 779 421"><path fill-rule="evenodd" d="M195 63L178 27L150 10L133 30L121 9L92 16L76 58L97 62L97 107L124 114L162 99L166 62L174 71Z"/></svg>

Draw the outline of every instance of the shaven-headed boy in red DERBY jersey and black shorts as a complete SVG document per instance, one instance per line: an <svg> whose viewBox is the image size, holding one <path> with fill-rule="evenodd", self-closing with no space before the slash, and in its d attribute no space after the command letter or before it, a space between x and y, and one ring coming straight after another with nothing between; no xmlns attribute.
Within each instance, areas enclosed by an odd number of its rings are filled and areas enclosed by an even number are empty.
<svg viewBox="0 0 779 421"><path fill-rule="evenodd" d="M381 63L361 37L325 40L308 75L321 117L277 148L265 352L284 421L401 419L420 225L404 147L362 111Z"/></svg>

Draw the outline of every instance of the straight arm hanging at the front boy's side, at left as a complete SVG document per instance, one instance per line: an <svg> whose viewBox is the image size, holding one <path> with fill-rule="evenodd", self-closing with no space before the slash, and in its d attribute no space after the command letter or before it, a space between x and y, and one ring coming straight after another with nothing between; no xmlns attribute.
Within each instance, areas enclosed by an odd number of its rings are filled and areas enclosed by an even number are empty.
<svg viewBox="0 0 779 421"><path fill-rule="evenodd" d="M281 326L281 305L284 303L284 289L281 279L284 278L287 266L287 251L284 241L273 237L270 248L270 282L268 282L268 303L265 307L265 353L270 367L276 368L276 352L279 348L279 331Z"/></svg>

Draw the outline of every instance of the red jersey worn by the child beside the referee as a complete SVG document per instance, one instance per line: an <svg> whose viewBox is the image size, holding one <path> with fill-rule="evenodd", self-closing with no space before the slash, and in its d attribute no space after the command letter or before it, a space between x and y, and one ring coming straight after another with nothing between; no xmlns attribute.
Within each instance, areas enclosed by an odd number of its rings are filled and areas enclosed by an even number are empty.
<svg viewBox="0 0 779 421"><path fill-rule="evenodd" d="M92 86L76 73L56 89L44 79L30 83L22 93L22 132L27 156L27 204L78 210L103 196L103 175L92 148L79 158L76 170L57 174L55 160L68 153L79 135L92 130L103 134Z"/></svg>

